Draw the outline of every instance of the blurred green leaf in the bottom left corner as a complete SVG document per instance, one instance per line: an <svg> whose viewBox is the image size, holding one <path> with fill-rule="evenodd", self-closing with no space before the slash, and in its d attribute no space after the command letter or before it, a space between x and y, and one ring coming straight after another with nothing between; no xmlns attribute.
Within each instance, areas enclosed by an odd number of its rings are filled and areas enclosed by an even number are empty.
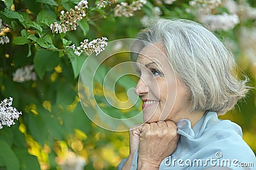
<svg viewBox="0 0 256 170"><path fill-rule="evenodd" d="M7 169L19 170L19 160L10 146L0 139L0 165L6 166Z"/></svg>

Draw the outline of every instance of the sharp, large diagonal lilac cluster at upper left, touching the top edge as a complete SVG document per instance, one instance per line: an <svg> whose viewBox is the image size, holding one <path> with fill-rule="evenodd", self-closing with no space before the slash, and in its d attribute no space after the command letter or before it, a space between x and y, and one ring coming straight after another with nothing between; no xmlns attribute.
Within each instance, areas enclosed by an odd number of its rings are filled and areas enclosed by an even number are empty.
<svg viewBox="0 0 256 170"><path fill-rule="evenodd" d="M76 30L77 22L86 16L84 11L86 8L88 8L88 2L82 0L75 6L75 10L70 9L70 12L61 11L60 23L54 22L50 26L52 33L66 33L67 31Z"/></svg>

